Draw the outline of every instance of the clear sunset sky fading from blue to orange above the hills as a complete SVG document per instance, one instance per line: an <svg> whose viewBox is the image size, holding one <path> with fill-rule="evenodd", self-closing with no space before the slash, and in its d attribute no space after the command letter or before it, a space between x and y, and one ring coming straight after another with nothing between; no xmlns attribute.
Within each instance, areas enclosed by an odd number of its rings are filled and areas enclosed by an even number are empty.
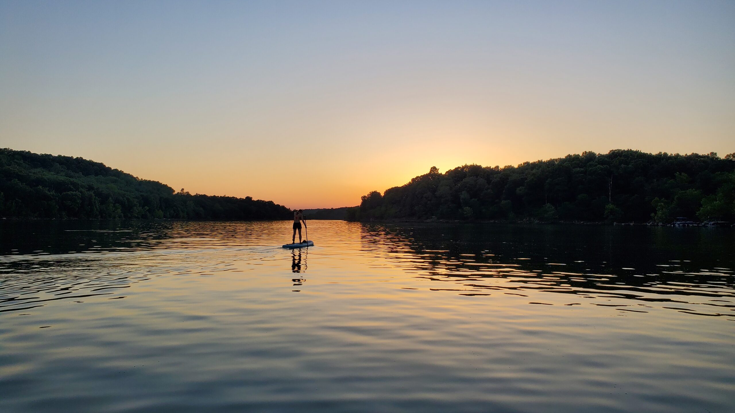
<svg viewBox="0 0 735 413"><path fill-rule="evenodd" d="M437 166L735 152L735 1L0 0L0 147L352 206Z"/></svg>

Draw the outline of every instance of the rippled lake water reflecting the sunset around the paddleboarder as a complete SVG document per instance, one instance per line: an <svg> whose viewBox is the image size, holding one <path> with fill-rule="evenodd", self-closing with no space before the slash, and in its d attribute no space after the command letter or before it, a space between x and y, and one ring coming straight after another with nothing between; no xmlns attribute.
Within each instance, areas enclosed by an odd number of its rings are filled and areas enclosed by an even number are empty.
<svg viewBox="0 0 735 413"><path fill-rule="evenodd" d="M735 231L0 223L0 412L735 412Z"/></svg>

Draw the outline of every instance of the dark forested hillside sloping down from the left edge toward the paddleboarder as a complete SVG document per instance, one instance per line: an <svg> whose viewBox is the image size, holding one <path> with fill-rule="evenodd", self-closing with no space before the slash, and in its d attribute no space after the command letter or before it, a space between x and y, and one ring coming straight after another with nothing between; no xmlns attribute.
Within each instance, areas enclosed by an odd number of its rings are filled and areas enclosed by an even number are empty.
<svg viewBox="0 0 735 413"><path fill-rule="evenodd" d="M288 219L251 197L190 195L87 159L0 149L0 217Z"/></svg>

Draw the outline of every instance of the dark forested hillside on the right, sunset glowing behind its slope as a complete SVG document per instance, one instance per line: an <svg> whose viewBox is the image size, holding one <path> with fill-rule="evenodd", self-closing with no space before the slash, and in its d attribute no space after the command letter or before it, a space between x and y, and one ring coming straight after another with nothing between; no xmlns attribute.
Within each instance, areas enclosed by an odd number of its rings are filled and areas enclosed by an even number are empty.
<svg viewBox="0 0 735 413"><path fill-rule="evenodd" d="M348 219L733 220L734 155L614 150L517 167L431 168L402 187L363 196Z"/></svg>

